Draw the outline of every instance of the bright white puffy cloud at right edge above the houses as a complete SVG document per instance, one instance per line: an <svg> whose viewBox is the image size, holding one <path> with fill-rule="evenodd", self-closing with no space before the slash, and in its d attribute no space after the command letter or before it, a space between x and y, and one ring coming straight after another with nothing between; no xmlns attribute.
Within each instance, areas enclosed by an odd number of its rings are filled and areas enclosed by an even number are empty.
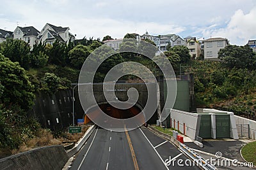
<svg viewBox="0 0 256 170"><path fill-rule="evenodd" d="M244 45L249 39L256 38L256 8L244 14L243 10L237 10L232 15L226 27L208 27L202 33L205 37L228 38L230 43Z"/></svg>

